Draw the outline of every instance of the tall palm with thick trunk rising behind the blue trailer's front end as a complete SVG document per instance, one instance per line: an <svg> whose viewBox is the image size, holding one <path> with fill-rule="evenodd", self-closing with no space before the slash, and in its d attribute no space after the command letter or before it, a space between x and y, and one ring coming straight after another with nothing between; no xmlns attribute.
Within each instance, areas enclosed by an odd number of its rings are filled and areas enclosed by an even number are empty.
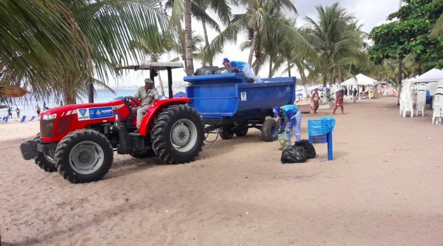
<svg viewBox="0 0 443 246"><path fill-rule="evenodd" d="M207 13L206 9L213 10L219 18L227 22L230 17L231 10L226 4L226 0L167 0L166 7L172 7L171 21L181 33L181 23L184 17L185 38L180 39L182 45L183 60L185 61L186 72L188 75L193 74L194 65L192 57L192 16L202 21L205 40L207 40L206 24L220 31L220 27ZM209 40L208 40L209 44ZM209 50L209 49L207 49Z"/></svg>

